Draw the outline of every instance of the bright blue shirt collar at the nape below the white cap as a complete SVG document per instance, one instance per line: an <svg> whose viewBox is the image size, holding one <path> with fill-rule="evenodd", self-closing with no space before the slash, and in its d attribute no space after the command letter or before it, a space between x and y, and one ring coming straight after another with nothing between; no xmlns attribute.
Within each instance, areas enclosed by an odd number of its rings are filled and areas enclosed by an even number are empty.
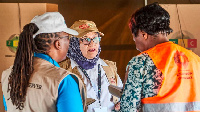
<svg viewBox="0 0 200 113"><path fill-rule="evenodd" d="M41 58L41 59L44 59L46 61L49 61L51 64L53 64L54 66L56 67L60 67L59 64L54 60L52 59L49 55L46 55L44 53L34 53L34 57L38 57L38 58Z"/></svg>

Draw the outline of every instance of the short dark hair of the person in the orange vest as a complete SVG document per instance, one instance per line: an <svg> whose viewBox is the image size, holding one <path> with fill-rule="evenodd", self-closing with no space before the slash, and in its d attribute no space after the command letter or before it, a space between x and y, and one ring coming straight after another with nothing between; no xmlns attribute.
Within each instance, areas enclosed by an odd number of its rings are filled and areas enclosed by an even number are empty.
<svg viewBox="0 0 200 113"><path fill-rule="evenodd" d="M156 35L159 32L170 34L173 30L169 24L169 13L158 3L153 3L133 13L129 28L135 36L138 36L139 29L149 35Z"/></svg>

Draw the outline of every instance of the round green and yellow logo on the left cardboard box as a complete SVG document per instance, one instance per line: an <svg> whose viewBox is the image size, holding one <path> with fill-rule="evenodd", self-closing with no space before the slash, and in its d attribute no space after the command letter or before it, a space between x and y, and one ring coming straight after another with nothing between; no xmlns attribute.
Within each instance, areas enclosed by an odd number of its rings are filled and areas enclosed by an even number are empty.
<svg viewBox="0 0 200 113"><path fill-rule="evenodd" d="M19 35L14 34L6 41L6 46L10 49L11 52L15 53L17 51L18 42Z"/></svg>

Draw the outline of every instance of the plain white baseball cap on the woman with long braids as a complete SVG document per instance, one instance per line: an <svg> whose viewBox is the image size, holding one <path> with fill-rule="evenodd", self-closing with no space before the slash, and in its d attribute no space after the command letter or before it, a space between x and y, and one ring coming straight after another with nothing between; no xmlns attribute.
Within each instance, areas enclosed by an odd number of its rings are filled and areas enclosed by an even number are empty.
<svg viewBox="0 0 200 113"><path fill-rule="evenodd" d="M31 23L35 23L39 30L33 35L40 33L66 32L71 35L78 35L78 32L67 27L64 17L59 12L47 12L40 16L35 16Z"/></svg>

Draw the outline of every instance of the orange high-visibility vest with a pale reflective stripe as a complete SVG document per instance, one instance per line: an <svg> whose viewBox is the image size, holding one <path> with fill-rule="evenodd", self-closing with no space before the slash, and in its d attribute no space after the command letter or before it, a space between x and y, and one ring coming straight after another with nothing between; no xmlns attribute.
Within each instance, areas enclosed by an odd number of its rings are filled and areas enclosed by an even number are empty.
<svg viewBox="0 0 200 113"><path fill-rule="evenodd" d="M172 42L144 51L164 79L157 96L143 98L143 111L200 111L200 57Z"/></svg>

